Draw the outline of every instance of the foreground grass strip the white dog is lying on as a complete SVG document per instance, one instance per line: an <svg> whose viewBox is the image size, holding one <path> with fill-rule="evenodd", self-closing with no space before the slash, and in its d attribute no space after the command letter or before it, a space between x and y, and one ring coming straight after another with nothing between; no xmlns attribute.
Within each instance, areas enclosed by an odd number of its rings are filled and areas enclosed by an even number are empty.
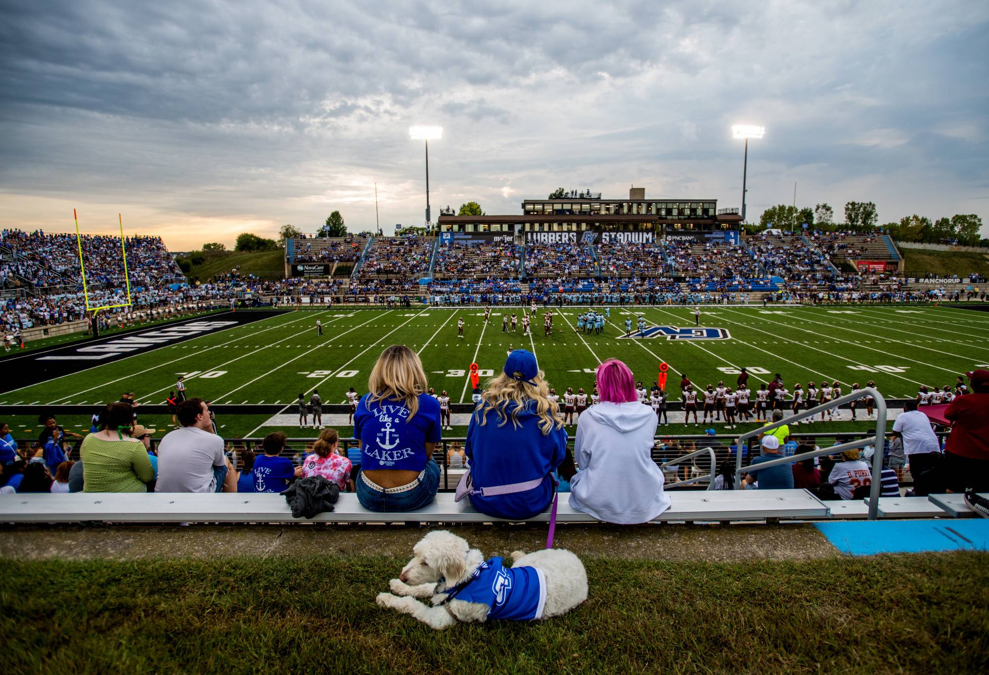
<svg viewBox="0 0 989 675"><path fill-rule="evenodd" d="M984 672L989 555L585 560L569 615L436 633L379 608L405 560L5 561L4 672Z"/></svg>

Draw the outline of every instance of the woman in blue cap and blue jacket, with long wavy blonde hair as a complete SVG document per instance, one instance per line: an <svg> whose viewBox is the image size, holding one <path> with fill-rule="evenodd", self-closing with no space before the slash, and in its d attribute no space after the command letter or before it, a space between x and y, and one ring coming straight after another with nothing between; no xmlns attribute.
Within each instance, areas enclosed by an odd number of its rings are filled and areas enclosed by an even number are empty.
<svg viewBox="0 0 989 675"><path fill-rule="evenodd" d="M567 431L543 378L531 352L512 351L471 415L469 498L481 513L525 520L553 499L552 473L566 458Z"/></svg>

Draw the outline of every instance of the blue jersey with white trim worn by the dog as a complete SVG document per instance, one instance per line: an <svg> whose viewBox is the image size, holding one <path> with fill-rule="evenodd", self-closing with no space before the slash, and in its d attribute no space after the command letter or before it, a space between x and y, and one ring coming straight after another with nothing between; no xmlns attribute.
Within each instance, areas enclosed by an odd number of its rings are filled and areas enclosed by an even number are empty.
<svg viewBox="0 0 989 675"><path fill-rule="evenodd" d="M533 621L543 618L546 579L538 567L505 567L493 557L474 570L454 599L490 606L489 619Z"/></svg>

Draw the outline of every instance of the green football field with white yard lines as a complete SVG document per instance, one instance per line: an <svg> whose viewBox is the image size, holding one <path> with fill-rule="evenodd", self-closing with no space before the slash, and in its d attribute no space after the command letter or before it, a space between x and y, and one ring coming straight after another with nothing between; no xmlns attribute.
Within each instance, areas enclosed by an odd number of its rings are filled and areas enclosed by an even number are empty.
<svg viewBox="0 0 989 675"><path fill-rule="evenodd" d="M0 394L0 410L13 404L35 405L39 412L46 405L79 405L78 415L59 417L66 428L78 430L88 428L89 414L100 403L117 400L122 391L135 391L143 404L163 403L177 376L186 374L189 396L221 404L284 406L281 415L222 415L218 425L225 436L258 436L275 430L294 437L312 436L315 432L303 433L298 426L294 402L299 393L308 398L318 389L324 404L343 403L350 386L363 393L375 360L392 344L414 349L429 385L437 392L446 390L453 402L471 400L472 362L479 364L485 380L500 370L508 348L534 352L560 394L568 386L575 391L583 386L589 393L594 368L609 357L627 363L647 387L657 379L660 363L667 362L672 400L680 397L678 381L683 373L696 385L725 380L734 386L738 369L746 367L750 388L759 388L780 373L790 390L795 382L806 386L808 380L841 380L846 393L852 382L864 385L874 380L887 397L905 398L914 396L921 384L953 386L958 375L989 364L989 312L947 306L703 307L701 326L722 329L709 331L722 339L668 339L666 333L694 326L692 307L612 306L600 334L575 330L577 316L585 308L554 308L549 337L543 335L543 308L532 335L522 334L520 322L516 332L502 332L501 315L512 311L521 317L521 307L493 307L488 324L483 307L292 311L8 391ZM625 319L631 318L634 327L640 314L650 327L669 328L651 331L657 336L646 339L626 338ZM321 337L316 336L317 318L322 321ZM465 322L463 338L457 336L460 318ZM345 415L325 417L324 424L349 436ZM846 411L842 421L816 425L814 431L868 428L847 419ZM34 416L5 415L3 421L15 437L27 438L37 428ZM140 421L161 427L168 420L144 415ZM692 424L664 429L697 433ZM464 432L462 424L456 424L446 435Z"/></svg>

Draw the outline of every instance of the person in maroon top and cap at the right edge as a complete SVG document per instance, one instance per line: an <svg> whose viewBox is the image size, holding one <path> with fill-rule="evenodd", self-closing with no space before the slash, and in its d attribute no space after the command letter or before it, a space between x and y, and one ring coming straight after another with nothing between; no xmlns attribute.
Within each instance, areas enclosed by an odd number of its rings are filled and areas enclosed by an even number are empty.
<svg viewBox="0 0 989 675"><path fill-rule="evenodd" d="M944 482L951 492L989 492L989 371L966 373L971 393L944 411L951 434L944 447Z"/></svg>

